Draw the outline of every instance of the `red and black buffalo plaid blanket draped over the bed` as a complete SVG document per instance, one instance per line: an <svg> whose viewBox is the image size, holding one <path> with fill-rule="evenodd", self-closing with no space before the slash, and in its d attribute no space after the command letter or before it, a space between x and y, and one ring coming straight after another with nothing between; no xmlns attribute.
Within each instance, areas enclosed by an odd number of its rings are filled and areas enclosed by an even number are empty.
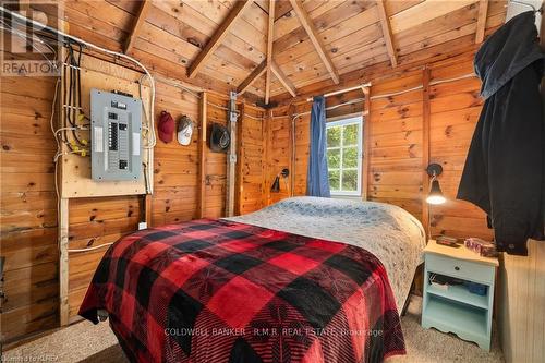
<svg viewBox="0 0 545 363"><path fill-rule="evenodd" d="M135 362L380 362L404 354L370 252L225 220L138 231L106 253L81 305L106 310Z"/></svg>

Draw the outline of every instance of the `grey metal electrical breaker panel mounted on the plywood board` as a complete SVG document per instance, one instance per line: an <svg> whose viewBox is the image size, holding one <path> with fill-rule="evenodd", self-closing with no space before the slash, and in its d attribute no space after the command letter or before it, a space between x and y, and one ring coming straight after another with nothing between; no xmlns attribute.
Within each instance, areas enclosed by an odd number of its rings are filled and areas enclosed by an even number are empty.
<svg viewBox="0 0 545 363"><path fill-rule="evenodd" d="M90 90L93 180L137 180L142 169L142 101Z"/></svg>

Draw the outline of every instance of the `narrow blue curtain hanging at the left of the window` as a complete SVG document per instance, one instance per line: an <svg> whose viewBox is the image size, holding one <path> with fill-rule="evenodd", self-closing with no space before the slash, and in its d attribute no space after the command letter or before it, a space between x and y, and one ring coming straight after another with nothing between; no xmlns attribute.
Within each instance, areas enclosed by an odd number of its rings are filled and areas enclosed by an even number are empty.
<svg viewBox="0 0 545 363"><path fill-rule="evenodd" d="M326 99L314 97L311 112L311 155L306 178L306 194L329 197L329 176L326 149Z"/></svg>

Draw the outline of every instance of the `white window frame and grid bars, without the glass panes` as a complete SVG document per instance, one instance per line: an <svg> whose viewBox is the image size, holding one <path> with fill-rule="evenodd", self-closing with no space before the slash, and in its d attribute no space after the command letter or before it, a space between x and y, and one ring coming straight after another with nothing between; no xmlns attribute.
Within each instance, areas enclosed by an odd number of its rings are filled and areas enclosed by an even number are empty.
<svg viewBox="0 0 545 363"><path fill-rule="evenodd" d="M340 149L340 161L341 161L341 166L340 168L335 168L334 170L339 170L339 186L340 186L340 191L332 191L331 190L331 195L332 196L360 196L362 195L362 184L363 184L363 181L362 181L362 167L363 167L363 145L362 145L362 131L363 131L363 116L351 116L351 117L347 117L347 118L343 118L343 119L336 119L335 121L327 121L326 122L326 157L327 157L327 153L329 152L329 149ZM354 168L342 168L342 161L343 161L343 148L344 145L343 145L343 142L344 142L344 137L343 137L343 128L341 128L341 137L340 137L340 146L335 146L335 147L328 147L327 146L327 132L329 129L331 128L335 128L335 126L348 126L348 125L351 125L351 124L356 124L358 125L358 141L356 141L356 147L358 147L358 168L356 168L356 172L358 172L358 189L356 191L342 191L342 172L344 170L354 170ZM351 147L351 146L348 146L348 147ZM328 178L329 178L329 165L328 165Z"/></svg>

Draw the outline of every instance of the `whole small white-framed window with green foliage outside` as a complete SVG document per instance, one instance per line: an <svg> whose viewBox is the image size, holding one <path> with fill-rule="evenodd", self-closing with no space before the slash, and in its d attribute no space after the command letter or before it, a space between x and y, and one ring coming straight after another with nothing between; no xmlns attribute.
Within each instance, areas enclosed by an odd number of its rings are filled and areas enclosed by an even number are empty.
<svg viewBox="0 0 545 363"><path fill-rule="evenodd" d="M327 167L331 195L361 195L362 118L328 122Z"/></svg>

